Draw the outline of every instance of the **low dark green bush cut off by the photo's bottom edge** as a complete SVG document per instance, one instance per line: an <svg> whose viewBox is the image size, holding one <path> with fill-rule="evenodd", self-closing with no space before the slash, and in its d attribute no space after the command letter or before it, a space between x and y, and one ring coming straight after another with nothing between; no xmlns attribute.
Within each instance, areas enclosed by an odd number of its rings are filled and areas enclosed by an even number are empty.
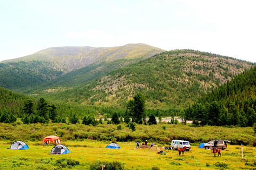
<svg viewBox="0 0 256 170"><path fill-rule="evenodd" d="M102 167L101 165L105 165L104 170L124 170L125 166L123 163L118 162L118 161L114 161L114 162L94 162L90 165L90 170L101 170Z"/></svg>

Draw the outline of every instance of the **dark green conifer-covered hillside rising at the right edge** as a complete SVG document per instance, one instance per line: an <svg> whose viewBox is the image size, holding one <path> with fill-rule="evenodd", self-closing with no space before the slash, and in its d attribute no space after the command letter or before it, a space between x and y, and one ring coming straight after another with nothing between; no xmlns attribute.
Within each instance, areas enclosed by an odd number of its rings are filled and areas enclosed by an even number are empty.
<svg viewBox="0 0 256 170"><path fill-rule="evenodd" d="M256 122L256 66L239 74L187 110L194 124L252 126Z"/></svg>

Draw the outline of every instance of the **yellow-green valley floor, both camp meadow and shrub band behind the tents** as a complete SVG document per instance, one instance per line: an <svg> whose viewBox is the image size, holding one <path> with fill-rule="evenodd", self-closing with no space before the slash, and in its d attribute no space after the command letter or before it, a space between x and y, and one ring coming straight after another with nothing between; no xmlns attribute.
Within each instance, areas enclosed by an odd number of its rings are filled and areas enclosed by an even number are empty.
<svg viewBox="0 0 256 170"><path fill-rule="evenodd" d="M92 128L87 125L55 124L42 128L42 124L11 125L2 124L0 131L0 169L90 169L90 166L99 163L118 162L124 169L252 169L256 165L256 148L253 141L255 135L252 128L223 128L215 127L215 131L205 133L212 129L211 126L202 128L193 126L157 124L150 126L137 125L137 130L132 132L122 125L121 130L113 124L104 124ZM58 128L57 128L58 126ZM162 126L166 126L165 129ZM19 133L22 129L23 133ZM80 134L82 133L83 134ZM187 133L189 131L189 133ZM88 135L86 135L88 133ZM68 154L50 154L53 143L46 146L42 141L48 135L60 137L61 145L69 149ZM90 135L89 135L90 134ZM125 135L129 135L129 139ZM97 138L95 138L98 136ZM105 137L105 140L101 140ZM109 137L109 140L106 138ZM95 139L94 139L95 138ZM171 138L190 140L191 149L184 155L178 156L177 150L164 150L166 155L158 155L157 151L149 148L136 149L137 140L142 144L142 139L147 138L148 145L167 147L171 145ZM227 149L221 150L221 157L210 155L210 150L198 148L210 139L225 138L232 143L227 144ZM11 150L14 140L25 142L29 149ZM121 139L126 139L120 141ZM120 149L106 148L116 140ZM242 160L241 142L243 141ZM218 155L218 154L217 154ZM70 164L69 161L72 163ZM223 169L222 168L222 169ZM107 168L106 168L107 169Z"/></svg>

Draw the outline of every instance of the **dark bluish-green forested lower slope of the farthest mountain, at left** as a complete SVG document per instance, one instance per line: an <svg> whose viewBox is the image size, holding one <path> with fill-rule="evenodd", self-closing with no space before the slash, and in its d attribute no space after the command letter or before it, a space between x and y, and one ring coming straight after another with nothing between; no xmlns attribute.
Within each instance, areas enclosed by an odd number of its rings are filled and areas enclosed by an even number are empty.
<svg viewBox="0 0 256 170"><path fill-rule="evenodd" d="M14 91L32 89L62 74L63 70L44 61L0 63L0 86Z"/></svg>

